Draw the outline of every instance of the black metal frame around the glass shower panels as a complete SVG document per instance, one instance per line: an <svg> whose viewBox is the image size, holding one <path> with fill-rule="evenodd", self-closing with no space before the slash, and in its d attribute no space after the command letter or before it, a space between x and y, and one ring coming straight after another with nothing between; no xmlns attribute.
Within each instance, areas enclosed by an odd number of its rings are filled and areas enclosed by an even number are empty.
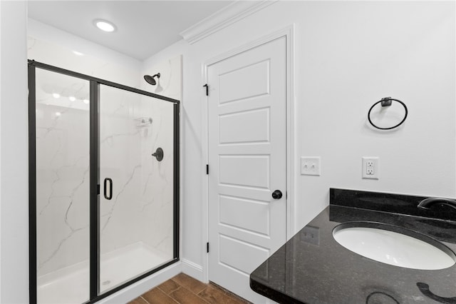
<svg viewBox="0 0 456 304"><path fill-rule="evenodd" d="M81 78L90 83L90 201L89 201L89 272L90 272L90 300L86 303L95 303L108 295L122 290L133 283L156 273L173 263L179 261L179 168L180 168L180 101L155 93L142 91L138 88L124 86L120 83L106 81L74 71L43 64L38 61L28 60L28 244L29 244L29 297L30 303L37 301L36 278L36 69L53 71L59 74ZM100 84L120 88L125 91L138 93L161 99L174 104L173 110L173 258L169 262L139 275L112 290L99 295L100 290ZM96 181L94 183L93 181Z"/></svg>

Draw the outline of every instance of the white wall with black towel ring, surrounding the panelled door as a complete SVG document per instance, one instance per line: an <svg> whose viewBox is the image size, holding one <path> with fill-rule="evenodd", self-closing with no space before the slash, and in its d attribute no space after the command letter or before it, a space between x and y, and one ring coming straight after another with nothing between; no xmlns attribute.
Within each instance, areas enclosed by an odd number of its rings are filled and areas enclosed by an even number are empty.
<svg viewBox="0 0 456 304"><path fill-rule="evenodd" d="M219 54L295 24L296 231L328 205L328 188L456 196L455 4L432 1L279 1L183 54L182 242L184 260L203 265L202 185L206 180L202 65ZM209 83L210 85L210 83ZM368 126L385 96L409 116L395 131ZM300 156L321 156L321 176L299 175ZM380 179L361 178L361 157L380 157Z"/></svg>

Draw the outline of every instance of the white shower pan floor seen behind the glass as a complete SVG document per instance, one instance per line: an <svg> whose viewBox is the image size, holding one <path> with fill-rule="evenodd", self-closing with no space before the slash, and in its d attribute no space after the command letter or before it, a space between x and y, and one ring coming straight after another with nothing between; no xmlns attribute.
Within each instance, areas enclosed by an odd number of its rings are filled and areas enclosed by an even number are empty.
<svg viewBox="0 0 456 304"><path fill-rule="evenodd" d="M172 260L143 242L100 256L100 293ZM88 301L88 260L38 277L38 304L81 304Z"/></svg>

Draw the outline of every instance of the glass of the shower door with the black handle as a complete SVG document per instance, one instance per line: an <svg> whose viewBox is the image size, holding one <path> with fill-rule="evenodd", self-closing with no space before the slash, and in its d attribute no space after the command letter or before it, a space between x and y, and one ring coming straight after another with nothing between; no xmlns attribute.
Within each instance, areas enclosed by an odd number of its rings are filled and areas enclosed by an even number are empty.
<svg viewBox="0 0 456 304"><path fill-rule="evenodd" d="M174 104L112 86L100 85L99 92L105 293L174 258ZM157 148L162 159L152 156Z"/></svg>

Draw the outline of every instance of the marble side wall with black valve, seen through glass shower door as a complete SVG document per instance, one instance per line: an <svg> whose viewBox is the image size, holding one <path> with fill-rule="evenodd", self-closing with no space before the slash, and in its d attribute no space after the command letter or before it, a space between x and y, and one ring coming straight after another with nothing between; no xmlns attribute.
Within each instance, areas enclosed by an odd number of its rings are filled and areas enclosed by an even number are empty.
<svg viewBox="0 0 456 304"><path fill-rule="evenodd" d="M173 254L173 105L142 97L142 113L150 113L150 126L140 128L141 163L140 230L143 240L167 257ZM163 149L163 160L151 156Z"/></svg>

